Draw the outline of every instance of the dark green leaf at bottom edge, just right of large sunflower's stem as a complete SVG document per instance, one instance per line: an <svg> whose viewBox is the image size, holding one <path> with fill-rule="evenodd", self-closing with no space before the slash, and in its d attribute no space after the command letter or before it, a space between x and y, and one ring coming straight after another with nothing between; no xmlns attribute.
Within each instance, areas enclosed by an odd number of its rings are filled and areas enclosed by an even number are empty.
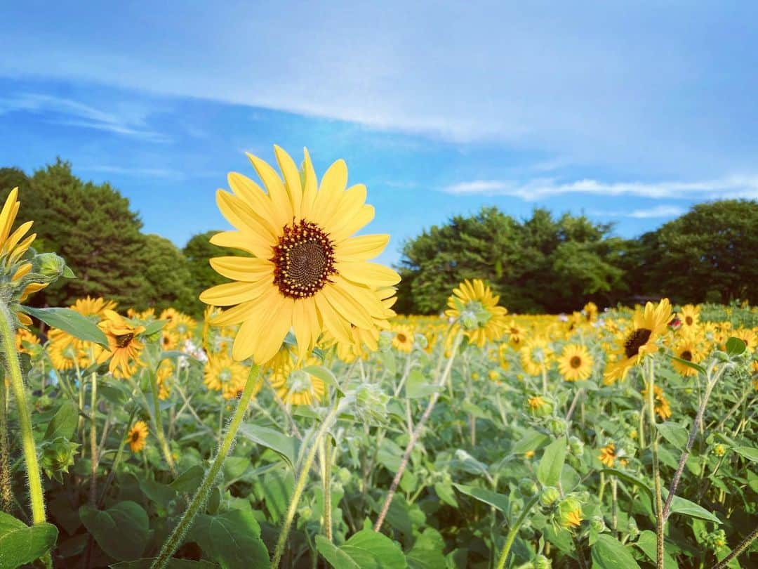
<svg viewBox="0 0 758 569"><path fill-rule="evenodd" d="M271 567L261 527L251 509L234 509L216 516L199 514L188 539L224 569Z"/></svg>

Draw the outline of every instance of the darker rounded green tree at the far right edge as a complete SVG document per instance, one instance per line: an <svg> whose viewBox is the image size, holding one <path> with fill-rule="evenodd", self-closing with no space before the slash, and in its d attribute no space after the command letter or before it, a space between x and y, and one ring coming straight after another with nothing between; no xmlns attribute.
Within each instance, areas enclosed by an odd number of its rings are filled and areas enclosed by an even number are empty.
<svg viewBox="0 0 758 569"><path fill-rule="evenodd" d="M680 303L758 301L758 201L700 203L641 237L643 290Z"/></svg>

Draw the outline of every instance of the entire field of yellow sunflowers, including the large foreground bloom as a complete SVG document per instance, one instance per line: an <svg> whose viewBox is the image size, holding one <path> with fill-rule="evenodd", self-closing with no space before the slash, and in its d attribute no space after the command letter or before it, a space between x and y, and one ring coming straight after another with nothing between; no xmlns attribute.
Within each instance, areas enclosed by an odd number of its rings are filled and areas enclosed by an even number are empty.
<svg viewBox="0 0 758 569"><path fill-rule="evenodd" d="M275 151L202 319L27 306L75 269L8 196L0 568L758 567L758 310L398 316L365 187Z"/></svg>

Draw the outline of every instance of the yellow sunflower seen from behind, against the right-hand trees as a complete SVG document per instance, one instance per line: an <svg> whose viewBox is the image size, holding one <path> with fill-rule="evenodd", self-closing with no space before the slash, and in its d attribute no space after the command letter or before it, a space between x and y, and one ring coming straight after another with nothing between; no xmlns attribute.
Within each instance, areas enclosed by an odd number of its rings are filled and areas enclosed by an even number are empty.
<svg viewBox="0 0 758 569"><path fill-rule="evenodd" d="M445 316L456 321L453 333L462 330L471 344L479 347L500 338L508 310L497 306L499 300L500 297L492 294L492 289L481 278L463 281L447 299Z"/></svg>

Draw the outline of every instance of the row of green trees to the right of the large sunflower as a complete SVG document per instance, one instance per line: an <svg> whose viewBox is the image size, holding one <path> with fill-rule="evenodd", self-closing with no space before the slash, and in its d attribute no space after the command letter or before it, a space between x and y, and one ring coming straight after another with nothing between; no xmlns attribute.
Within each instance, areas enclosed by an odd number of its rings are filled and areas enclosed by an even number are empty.
<svg viewBox="0 0 758 569"><path fill-rule="evenodd" d="M456 215L402 247L398 308L436 313L463 278L484 278L512 312L560 313L669 297L758 300L758 202L719 200L634 239L584 215L496 207Z"/></svg>

